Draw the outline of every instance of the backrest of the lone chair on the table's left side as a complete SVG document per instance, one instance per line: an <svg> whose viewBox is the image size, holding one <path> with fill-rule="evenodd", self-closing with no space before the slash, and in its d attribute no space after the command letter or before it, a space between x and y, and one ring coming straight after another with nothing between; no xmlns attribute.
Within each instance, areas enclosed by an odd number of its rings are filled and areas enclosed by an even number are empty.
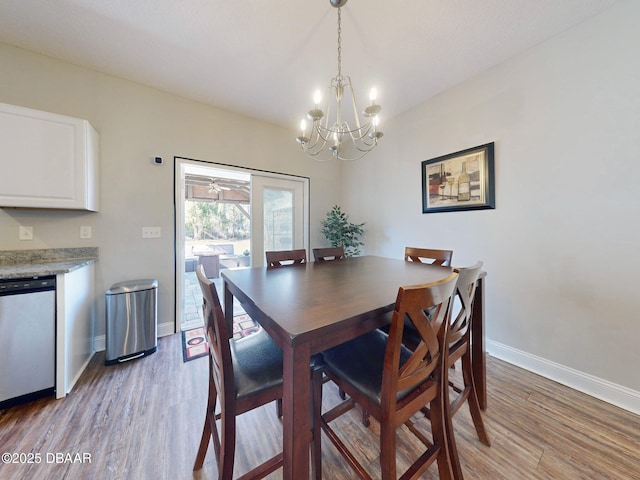
<svg viewBox="0 0 640 480"><path fill-rule="evenodd" d="M223 408L235 401L235 380L229 332L220 305L216 285L207 278L204 267L198 265L196 276L202 290L202 311L205 333L209 343L209 374L213 379Z"/></svg>

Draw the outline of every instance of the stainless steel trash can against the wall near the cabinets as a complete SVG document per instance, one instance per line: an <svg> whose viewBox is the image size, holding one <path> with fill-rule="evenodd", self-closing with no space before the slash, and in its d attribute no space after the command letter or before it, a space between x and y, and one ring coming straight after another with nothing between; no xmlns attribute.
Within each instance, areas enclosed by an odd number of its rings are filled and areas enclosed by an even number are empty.
<svg viewBox="0 0 640 480"><path fill-rule="evenodd" d="M157 280L120 282L107 290L105 365L144 357L157 350L157 292Z"/></svg>

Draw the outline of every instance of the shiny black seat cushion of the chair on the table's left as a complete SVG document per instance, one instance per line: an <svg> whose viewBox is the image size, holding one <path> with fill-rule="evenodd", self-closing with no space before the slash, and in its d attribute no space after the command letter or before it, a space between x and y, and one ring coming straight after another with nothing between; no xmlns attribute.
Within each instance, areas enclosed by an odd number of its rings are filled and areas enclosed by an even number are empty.
<svg viewBox="0 0 640 480"><path fill-rule="evenodd" d="M238 398L282 384L282 350L262 328L229 342Z"/></svg>

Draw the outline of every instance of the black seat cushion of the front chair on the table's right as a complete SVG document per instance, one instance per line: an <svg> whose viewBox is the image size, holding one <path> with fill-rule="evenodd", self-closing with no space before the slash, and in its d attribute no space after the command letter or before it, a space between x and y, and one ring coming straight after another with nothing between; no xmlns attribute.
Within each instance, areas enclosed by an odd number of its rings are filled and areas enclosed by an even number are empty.
<svg viewBox="0 0 640 480"><path fill-rule="evenodd" d="M325 369L349 382L374 403L380 404L382 393L382 371L389 336L374 330L354 340L322 352ZM402 346L400 366L404 365L411 351ZM411 390L398 392L398 399Z"/></svg>

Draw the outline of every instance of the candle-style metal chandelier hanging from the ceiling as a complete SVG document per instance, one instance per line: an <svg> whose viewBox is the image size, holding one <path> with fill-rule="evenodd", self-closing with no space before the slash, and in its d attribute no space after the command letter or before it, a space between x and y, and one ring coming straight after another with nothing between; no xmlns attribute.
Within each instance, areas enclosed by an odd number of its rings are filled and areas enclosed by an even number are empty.
<svg viewBox="0 0 640 480"><path fill-rule="evenodd" d="M315 93L315 106L307 113L310 124L302 120L302 134L296 140L304 152L316 160L357 160L373 150L382 137L378 130L378 113L382 107L376 104L376 90L371 89L371 104L362 111L364 121L360 121L351 78L342 75L341 7L347 0L329 2L338 9L338 74L331 79L324 98L319 90ZM332 112L334 117L330 120Z"/></svg>

